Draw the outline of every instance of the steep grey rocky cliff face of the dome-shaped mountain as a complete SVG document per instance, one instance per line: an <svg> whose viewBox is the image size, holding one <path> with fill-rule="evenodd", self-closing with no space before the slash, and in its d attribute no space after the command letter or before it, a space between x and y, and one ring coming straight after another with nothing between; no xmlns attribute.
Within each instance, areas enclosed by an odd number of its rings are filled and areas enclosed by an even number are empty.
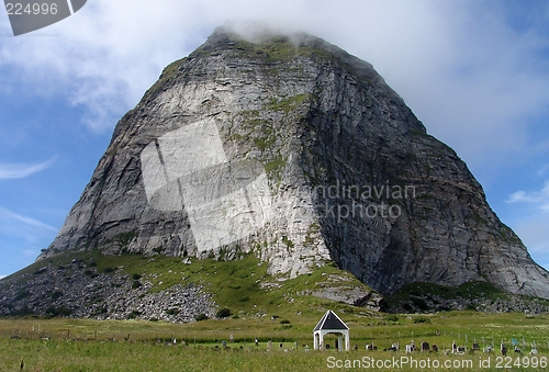
<svg viewBox="0 0 549 372"><path fill-rule="evenodd" d="M217 30L116 125L47 258L101 249L271 274L334 260L382 294L488 281L549 297L549 273L456 153L371 65L307 36Z"/></svg>

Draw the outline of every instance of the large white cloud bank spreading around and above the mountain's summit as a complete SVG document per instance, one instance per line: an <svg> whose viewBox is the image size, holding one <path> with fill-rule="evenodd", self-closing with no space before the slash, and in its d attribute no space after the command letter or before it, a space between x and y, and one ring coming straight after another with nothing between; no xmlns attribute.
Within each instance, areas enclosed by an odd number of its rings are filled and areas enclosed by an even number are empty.
<svg viewBox="0 0 549 372"><path fill-rule="evenodd" d="M549 71L538 56L547 37L536 29L547 23L547 13L530 30L517 31L498 7L434 0L96 0L40 32L58 37L9 40L0 47L0 66L35 83L40 94L65 93L88 109L90 127L104 131L137 103L164 66L194 49L215 26L227 19L267 19L369 60L429 132L473 166L493 166L531 148L536 138L525 117L549 103Z"/></svg>

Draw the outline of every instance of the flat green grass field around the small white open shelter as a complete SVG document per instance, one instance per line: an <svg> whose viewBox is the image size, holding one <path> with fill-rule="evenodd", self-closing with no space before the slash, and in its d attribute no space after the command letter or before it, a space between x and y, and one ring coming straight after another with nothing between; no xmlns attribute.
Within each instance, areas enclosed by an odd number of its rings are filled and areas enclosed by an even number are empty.
<svg viewBox="0 0 549 372"><path fill-rule="evenodd" d="M21 360L25 371L329 371L329 370L395 370L395 371L538 371L549 356L549 316L525 314L485 314L451 312L434 315L362 316L343 311L338 314L350 327L351 348L358 350L306 351L312 347L312 329L322 313L293 314L284 319L251 317L210 319L192 324L124 320L97 322L86 319L13 318L0 320L0 370L19 371ZM282 322L283 320L283 322ZM439 336L437 336L437 331ZM233 335L233 342L231 342ZM173 338L177 343L173 345ZM254 340L258 339L256 346ZM520 356L512 351L512 340L522 347ZM439 352L404 353L404 345L414 340L437 345ZM222 348L225 340L228 349ZM267 350L272 340L272 350ZM452 341L471 348L494 343L496 352L445 354ZM500 357L500 342L509 347L511 359ZM335 337L326 343L334 347ZM536 341L537 358L529 356L530 342ZM282 342L282 348L280 343ZM377 351L367 351L373 342ZM397 352L382 351L399 342ZM295 348L296 347L296 348ZM491 368L480 368L488 363ZM371 359L374 361L372 362ZM396 367L376 367L385 360L397 360ZM401 358L413 358L416 365L402 364ZM405 360L405 359L404 359ZM412 362L408 359L410 362ZM500 365L497 365L500 362ZM540 364L541 362L541 364ZM347 364L345 364L347 363ZM423 364L422 364L423 363ZM425 363L430 363L428 368ZM439 368L433 364L439 363ZM450 369L444 363L450 363ZM455 364L456 363L456 364ZM472 363L472 367L471 364ZM528 367L525 367L528 363ZM530 364L537 363L537 368ZM505 369L505 367L509 367ZM348 368L346 368L346 365ZM341 368L339 368L341 367ZM380 365L378 365L380 367ZM386 367L386 365L385 365ZM502 368L496 368L502 367ZM547 369L547 368L546 368Z"/></svg>

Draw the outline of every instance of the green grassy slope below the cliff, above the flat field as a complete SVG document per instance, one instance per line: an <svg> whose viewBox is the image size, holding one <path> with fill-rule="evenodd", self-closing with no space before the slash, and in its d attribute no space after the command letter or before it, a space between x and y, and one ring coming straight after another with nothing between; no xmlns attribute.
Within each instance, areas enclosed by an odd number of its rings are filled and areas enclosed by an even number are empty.
<svg viewBox="0 0 549 372"><path fill-rule="evenodd" d="M124 253L104 256L99 250L61 255L41 260L5 281L18 283L23 273L40 275L46 266L56 268L74 268L70 262L80 260L83 275L97 273L127 275L127 280L144 283L150 282L149 292L169 290L172 285L195 284L213 294L213 300L221 307L227 307L236 316L285 316L296 312L324 312L326 308L346 309L348 312L367 312L363 308L320 298L311 295L311 291L325 286L359 288L368 290L350 273L337 269L334 264L317 268L313 273L295 279L272 277L267 273L267 263L260 262L253 255L242 255L239 259L219 261L215 259L189 259L184 263L181 258L157 255ZM72 270L72 269L71 269ZM138 284L137 284L138 285Z"/></svg>

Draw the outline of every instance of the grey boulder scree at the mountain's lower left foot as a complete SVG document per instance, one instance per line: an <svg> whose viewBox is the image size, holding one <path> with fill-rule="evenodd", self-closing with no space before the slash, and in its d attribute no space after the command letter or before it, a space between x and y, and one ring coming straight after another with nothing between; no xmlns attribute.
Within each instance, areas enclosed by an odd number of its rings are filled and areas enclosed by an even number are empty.
<svg viewBox="0 0 549 372"><path fill-rule="evenodd" d="M47 264L35 272L9 278L0 289L0 315L54 315L93 319L157 319L194 322L204 314L213 317L212 295L195 285L175 285L149 292L128 275L98 273L75 260L70 266Z"/></svg>

